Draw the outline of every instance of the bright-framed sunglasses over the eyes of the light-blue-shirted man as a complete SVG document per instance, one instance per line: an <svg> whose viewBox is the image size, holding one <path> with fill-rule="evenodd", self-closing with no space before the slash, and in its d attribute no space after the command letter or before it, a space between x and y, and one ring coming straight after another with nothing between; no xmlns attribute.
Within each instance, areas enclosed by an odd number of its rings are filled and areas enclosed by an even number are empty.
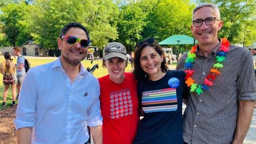
<svg viewBox="0 0 256 144"><path fill-rule="evenodd" d="M63 36L61 36L61 39L64 39L64 38L66 39L66 41L67 41L69 44L72 44L72 45L76 44L77 41L79 41L81 47L84 47L84 48L88 47L88 46L90 45L90 43L91 43L90 40L87 40L87 39L80 39L80 38L77 38L77 37L75 37L75 36L69 36L69 35L63 35Z"/></svg>

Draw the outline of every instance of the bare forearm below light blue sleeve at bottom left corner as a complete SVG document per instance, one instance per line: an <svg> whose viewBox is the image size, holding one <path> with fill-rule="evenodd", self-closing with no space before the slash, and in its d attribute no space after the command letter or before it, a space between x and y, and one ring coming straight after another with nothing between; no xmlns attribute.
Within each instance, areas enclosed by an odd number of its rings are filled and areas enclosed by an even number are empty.
<svg viewBox="0 0 256 144"><path fill-rule="evenodd" d="M18 144L30 144L31 143L31 128L21 128L17 131Z"/></svg>

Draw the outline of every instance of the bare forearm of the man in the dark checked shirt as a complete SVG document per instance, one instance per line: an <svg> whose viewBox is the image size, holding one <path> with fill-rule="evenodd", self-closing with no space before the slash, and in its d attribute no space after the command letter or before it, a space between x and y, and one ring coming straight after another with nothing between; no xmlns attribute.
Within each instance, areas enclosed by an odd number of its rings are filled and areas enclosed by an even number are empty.
<svg viewBox="0 0 256 144"><path fill-rule="evenodd" d="M250 127L251 117L253 113L254 102L253 101L240 101L238 107L238 119L236 135L233 139L233 144L243 143L245 135Z"/></svg>

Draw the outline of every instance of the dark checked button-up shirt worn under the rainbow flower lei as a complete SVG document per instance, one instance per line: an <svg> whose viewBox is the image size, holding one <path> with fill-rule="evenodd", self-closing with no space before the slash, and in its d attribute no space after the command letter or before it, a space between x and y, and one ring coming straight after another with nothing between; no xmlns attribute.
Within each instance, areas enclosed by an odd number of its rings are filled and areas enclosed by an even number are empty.
<svg viewBox="0 0 256 144"><path fill-rule="evenodd" d="M221 42L208 57L200 56L198 47L192 78L199 84L216 63ZM184 69L185 53L176 69ZM198 95L190 92L183 119L183 138L187 143L231 143L236 131L238 101L256 100L252 56L243 47L230 45L224 67L219 69L209 90Z"/></svg>

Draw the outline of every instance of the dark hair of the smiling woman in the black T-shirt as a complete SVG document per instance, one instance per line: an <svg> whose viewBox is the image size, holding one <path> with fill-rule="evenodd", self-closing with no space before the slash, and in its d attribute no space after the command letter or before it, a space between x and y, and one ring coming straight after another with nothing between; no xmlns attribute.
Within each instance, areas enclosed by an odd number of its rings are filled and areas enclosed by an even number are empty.
<svg viewBox="0 0 256 144"><path fill-rule="evenodd" d="M163 55L163 61L161 62L161 70L162 70L162 72L167 71L167 65L166 65L166 60L165 60L164 51L162 49L162 46L160 46L156 41L154 41L152 43L148 43L145 40L145 42L143 42L142 45L137 46L135 51L134 51L134 63L133 63L134 64L134 70L133 70L133 74L135 75L135 78L137 80L148 79L147 73L140 67L140 55L141 55L142 50L146 46L153 47L160 56Z"/></svg>

